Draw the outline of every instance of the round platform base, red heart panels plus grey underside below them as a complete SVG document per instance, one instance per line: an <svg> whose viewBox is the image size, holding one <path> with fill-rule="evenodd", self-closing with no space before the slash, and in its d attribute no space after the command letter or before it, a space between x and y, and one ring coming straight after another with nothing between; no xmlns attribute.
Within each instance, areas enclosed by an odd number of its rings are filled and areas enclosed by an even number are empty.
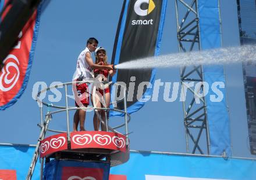
<svg viewBox="0 0 256 180"><path fill-rule="evenodd" d="M129 159L129 146L125 135L105 131L72 132L70 142L67 142L67 133L62 133L47 137L40 144L40 157L77 157L80 154L98 159L109 157L111 166L116 166Z"/></svg>

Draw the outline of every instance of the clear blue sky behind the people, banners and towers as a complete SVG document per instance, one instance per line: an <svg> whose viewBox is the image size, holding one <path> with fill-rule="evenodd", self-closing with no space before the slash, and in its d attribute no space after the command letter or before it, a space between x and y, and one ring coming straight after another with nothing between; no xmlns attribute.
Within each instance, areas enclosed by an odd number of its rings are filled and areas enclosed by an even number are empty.
<svg viewBox="0 0 256 180"><path fill-rule="evenodd" d="M15 105L0 112L1 143L36 144L40 133L37 127L37 123L40 123L40 111L31 97L33 86L36 82L45 82L48 86L52 82L70 82L77 56L89 37L94 36L99 40L99 46L105 47L110 63L121 8L120 0L55 0L49 3L41 15L27 89ZM221 1L221 17L223 46L238 46L236 0ZM175 1L169 1L160 53L177 51ZM156 79L161 79L162 82L179 82L179 71L179 68L157 69ZM248 144L241 64L225 65L225 72L233 156L255 157L250 155ZM182 102L165 102L162 94L163 89L160 89L158 102L149 101L140 111L131 115L131 149L186 152ZM58 102L59 105L61 103L63 101ZM73 106L73 101L70 100L69 104ZM70 112L71 118L73 113ZM93 130L92 115L93 113L87 114L88 130ZM114 124L119 123L120 119L115 118L113 121ZM65 113L54 116L50 127L65 130Z"/></svg>

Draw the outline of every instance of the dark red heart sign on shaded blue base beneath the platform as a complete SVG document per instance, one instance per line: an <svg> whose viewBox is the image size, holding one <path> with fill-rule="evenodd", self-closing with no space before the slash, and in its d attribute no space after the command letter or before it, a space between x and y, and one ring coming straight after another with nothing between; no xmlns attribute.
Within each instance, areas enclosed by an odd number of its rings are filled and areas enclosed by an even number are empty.
<svg viewBox="0 0 256 180"><path fill-rule="evenodd" d="M102 168L63 167L62 180L103 180Z"/></svg>

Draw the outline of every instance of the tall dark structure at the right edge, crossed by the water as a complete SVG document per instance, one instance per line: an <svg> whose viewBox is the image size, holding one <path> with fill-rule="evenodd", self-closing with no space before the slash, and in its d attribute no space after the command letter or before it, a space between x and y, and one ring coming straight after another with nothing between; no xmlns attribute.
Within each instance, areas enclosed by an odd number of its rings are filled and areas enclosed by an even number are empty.
<svg viewBox="0 0 256 180"><path fill-rule="evenodd" d="M256 43L256 1L237 0L241 45ZM251 153L256 155L256 63L243 63Z"/></svg>

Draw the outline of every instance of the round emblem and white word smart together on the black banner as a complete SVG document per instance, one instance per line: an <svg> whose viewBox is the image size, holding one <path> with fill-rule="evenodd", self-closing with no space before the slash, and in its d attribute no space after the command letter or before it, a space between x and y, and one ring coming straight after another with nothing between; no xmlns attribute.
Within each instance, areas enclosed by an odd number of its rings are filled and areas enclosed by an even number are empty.
<svg viewBox="0 0 256 180"><path fill-rule="evenodd" d="M141 9L141 5L147 3L147 9ZM137 0L134 4L134 12L138 16L147 16L155 9L155 3L152 0ZM132 20L131 25L152 25L153 20Z"/></svg>

